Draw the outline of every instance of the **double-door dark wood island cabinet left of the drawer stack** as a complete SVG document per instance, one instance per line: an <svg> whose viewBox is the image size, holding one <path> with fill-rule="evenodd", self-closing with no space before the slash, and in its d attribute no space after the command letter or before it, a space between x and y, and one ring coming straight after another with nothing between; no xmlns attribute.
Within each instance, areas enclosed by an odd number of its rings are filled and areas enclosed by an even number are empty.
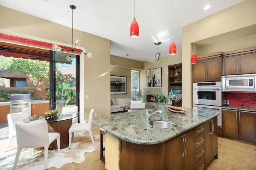
<svg viewBox="0 0 256 170"><path fill-rule="evenodd" d="M166 142L166 169L186 170L195 166L194 129Z"/></svg>

